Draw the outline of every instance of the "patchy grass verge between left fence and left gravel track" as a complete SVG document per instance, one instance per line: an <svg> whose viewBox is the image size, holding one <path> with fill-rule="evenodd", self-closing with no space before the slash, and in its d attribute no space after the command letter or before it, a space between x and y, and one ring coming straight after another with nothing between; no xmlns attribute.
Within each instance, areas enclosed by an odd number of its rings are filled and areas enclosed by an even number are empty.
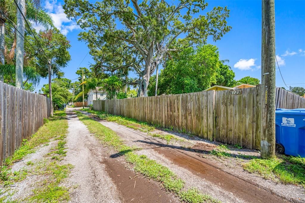
<svg viewBox="0 0 305 203"><path fill-rule="evenodd" d="M41 183L37 183L36 188L33 190L34 195L22 200L27 202L60 202L69 200L68 188L59 186L59 183L67 177L70 173L72 165L60 165L57 159L52 162L42 161L34 163L29 161L26 163L27 166L34 166L35 168L31 171L22 169L20 171L11 172L10 166L14 162L23 159L26 155L36 151L36 147L44 144L46 145L50 139L59 140L56 146L56 153L59 156L65 156L66 151L64 138L67 134L68 122L66 120L66 113L64 111L54 112L54 116L48 121L45 121L44 125L41 126L38 131L31 137L31 139L24 140L22 147L16 150L15 154L5 160L5 166L0 171L0 183L6 186L24 180L28 173L34 175L45 175L46 180ZM61 160L61 159L60 159ZM3 198L3 201L9 201L8 196ZM19 201L19 200L18 200Z"/></svg>

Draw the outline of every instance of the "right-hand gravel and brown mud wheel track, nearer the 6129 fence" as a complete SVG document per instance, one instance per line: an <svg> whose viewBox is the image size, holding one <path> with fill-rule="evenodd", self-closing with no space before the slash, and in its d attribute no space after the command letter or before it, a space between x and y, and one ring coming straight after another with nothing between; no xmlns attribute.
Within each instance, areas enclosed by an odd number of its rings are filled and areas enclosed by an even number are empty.
<svg viewBox="0 0 305 203"><path fill-rule="evenodd" d="M202 192L210 191L210 193L215 195L217 193L217 187L221 188L225 194L218 194L218 197L213 197L219 198L222 201L285 202L283 198L272 194L269 191L265 191L263 188L257 187L253 183L226 173L215 166L213 162L210 162L205 158L200 158L191 151L182 150L178 146L169 146L158 138L149 137L142 132L129 129L125 126L118 125L117 123L107 121L100 121L100 123L117 132L117 134L129 145L137 145L145 150L149 150L146 155L155 154L154 159L160 161L162 158L155 153L158 152L158 154L163 155L167 159L167 162L173 162L175 166L187 169L189 172L196 175L200 180L198 182L210 183L210 188L206 188L206 191ZM141 154L142 151L138 151L138 153ZM152 158L152 155L149 158ZM167 164L166 160L162 164ZM168 165L167 167L177 173L173 166L170 167ZM181 178L184 180L187 179L187 173ZM218 192L220 191L221 190L218 190Z"/></svg>

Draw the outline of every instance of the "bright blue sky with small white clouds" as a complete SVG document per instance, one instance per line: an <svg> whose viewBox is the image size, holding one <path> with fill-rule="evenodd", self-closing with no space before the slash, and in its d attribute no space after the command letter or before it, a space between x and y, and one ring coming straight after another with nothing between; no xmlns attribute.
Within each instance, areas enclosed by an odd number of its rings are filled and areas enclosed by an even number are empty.
<svg viewBox="0 0 305 203"><path fill-rule="evenodd" d="M177 1L178 2L178 1ZM261 74L261 1L206 1L209 11L214 6L228 6L231 10L228 24L232 26L230 32L216 42L208 43L219 48L220 59L228 59L228 65L235 72L235 79L245 76L260 79ZM77 35L82 31L73 20L66 18L63 13L62 0L45 0L43 6L50 12L55 26L70 40L71 61L63 69L65 77L77 78L77 67L88 67L93 62L88 54L84 42L77 40ZM286 84L292 87L305 87L305 1L275 1L275 42L276 55L282 76ZM204 13L203 13L204 14ZM40 26L37 26L39 29ZM85 57L85 58L84 58ZM284 82L276 68L276 85L284 87ZM46 84L47 79L42 79L39 86ZM40 87L35 91L38 91ZM288 85L289 86L289 85Z"/></svg>

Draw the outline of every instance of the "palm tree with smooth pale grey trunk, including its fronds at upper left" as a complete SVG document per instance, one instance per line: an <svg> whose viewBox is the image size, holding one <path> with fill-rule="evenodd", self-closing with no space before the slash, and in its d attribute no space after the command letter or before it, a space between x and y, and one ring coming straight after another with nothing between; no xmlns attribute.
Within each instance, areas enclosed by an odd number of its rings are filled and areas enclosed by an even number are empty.
<svg viewBox="0 0 305 203"><path fill-rule="evenodd" d="M15 1L15 0L13 0L13 1ZM25 2L25 0L16 0L16 1L17 1L16 29L20 32L20 35L24 36L24 18L23 18L23 16L26 16L26 2ZM40 3L39 0L32 0L32 1L28 0L27 1L27 5L32 6L33 8L36 7L36 10L38 10L38 11L41 10L39 8L39 3ZM30 9L28 11L30 12ZM32 11L34 11L34 9ZM40 12L39 14L42 14L42 12ZM48 14L46 14L46 16L47 15ZM34 15L34 16L30 15L30 16L35 17L34 20L37 20L37 17L39 15ZM51 16L49 16L48 22L52 22ZM46 22L46 24L47 24L47 22ZM22 88L24 39L20 35L17 35L17 41L16 41L16 87Z"/></svg>

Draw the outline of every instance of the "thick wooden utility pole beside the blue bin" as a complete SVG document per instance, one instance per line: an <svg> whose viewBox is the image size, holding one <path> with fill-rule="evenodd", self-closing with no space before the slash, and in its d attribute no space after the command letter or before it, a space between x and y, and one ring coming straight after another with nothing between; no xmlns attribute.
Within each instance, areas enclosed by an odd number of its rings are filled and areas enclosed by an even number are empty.
<svg viewBox="0 0 305 203"><path fill-rule="evenodd" d="M262 134L260 156L275 156L275 14L274 0L262 0Z"/></svg>

